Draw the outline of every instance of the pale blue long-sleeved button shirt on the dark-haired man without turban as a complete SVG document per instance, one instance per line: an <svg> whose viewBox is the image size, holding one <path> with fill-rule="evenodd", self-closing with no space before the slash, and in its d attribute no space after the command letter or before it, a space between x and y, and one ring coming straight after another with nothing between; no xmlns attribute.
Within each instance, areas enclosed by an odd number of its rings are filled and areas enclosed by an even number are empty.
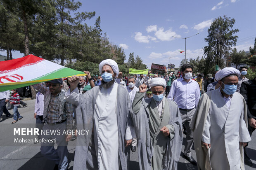
<svg viewBox="0 0 256 170"><path fill-rule="evenodd" d="M180 109L193 109L200 98L200 88L196 81L187 83L183 78L173 81L168 99L174 100Z"/></svg>

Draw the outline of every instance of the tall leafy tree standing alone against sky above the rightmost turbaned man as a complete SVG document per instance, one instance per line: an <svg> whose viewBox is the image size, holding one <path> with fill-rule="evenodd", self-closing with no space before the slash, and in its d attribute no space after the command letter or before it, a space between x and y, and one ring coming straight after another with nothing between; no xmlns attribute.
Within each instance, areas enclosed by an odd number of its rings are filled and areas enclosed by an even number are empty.
<svg viewBox="0 0 256 170"><path fill-rule="evenodd" d="M225 67L226 57L231 47L235 46L237 42L237 36L234 34L239 30L232 29L234 24L235 19L231 19L226 15L219 16L211 23L208 29L208 36L204 39L208 43L204 47L208 72L213 71L215 65L220 68Z"/></svg>

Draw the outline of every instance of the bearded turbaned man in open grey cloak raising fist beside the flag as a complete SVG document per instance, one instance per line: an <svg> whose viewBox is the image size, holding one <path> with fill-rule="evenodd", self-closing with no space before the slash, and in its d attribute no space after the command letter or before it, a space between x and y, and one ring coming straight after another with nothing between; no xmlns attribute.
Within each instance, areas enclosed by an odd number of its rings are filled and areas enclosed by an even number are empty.
<svg viewBox="0 0 256 170"><path fill-rule="evenodd" d="M69 78L70 90L65 99L76 109L78 130L86 135L77 136L74 159L76 170L127 170L132 142L130 133L131 102L128 91L114 80L118 65L104 60L99 65L102 84L79 94L78 77Z"/></svg>

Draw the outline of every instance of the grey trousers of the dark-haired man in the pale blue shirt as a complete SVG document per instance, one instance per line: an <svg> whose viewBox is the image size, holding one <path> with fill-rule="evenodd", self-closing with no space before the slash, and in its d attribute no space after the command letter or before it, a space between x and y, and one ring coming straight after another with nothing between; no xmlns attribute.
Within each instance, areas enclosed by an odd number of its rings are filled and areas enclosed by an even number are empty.
<svg viewBox="0 0 256 170"><path fill-rule="evenodd" d="M187 135L186 135L186 143L185 143L185 148L184 148L184 155L186 156L191 156L191 149L193 146L193 132L189 126L194 112L196 111L196 108L190 109L190 110L185 110L185 109L180 109L180 117L182 120L182 124L185 124L185 128L187 130Z"/></svg>

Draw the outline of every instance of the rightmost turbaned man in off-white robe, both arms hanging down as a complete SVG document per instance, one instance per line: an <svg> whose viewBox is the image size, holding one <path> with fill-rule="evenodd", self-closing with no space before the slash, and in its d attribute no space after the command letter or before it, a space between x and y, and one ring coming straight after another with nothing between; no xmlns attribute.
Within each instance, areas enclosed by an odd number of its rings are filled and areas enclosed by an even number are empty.
<svg viewBox="0 0 256 170"><path fill-rule="evenodd" d="M199 100L190 124L199 170L244 170L243 146L251 137L246 102L235 92L239 76L235 68L217 72L220 87Z"/></svg>

